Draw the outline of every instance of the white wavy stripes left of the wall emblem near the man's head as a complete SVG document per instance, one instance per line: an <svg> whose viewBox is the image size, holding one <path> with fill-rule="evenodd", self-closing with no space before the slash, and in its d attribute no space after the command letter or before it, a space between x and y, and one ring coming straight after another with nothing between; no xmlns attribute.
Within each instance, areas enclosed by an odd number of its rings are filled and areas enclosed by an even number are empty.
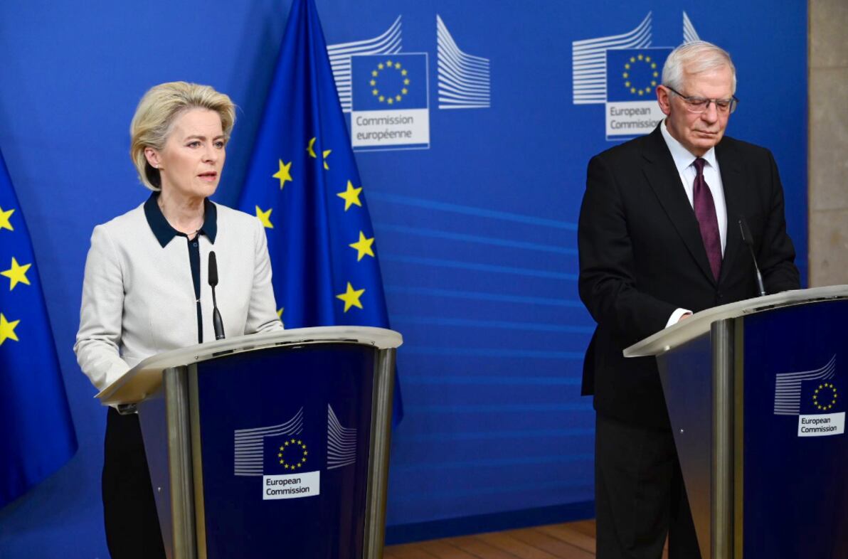
<svg viewBox="0 0 848 559"><path fill-rule="evenodd" d="M650 47L651 12L642 23L623 35L572 42L574 104L606 103L606 51L610 48Z"/></svg>

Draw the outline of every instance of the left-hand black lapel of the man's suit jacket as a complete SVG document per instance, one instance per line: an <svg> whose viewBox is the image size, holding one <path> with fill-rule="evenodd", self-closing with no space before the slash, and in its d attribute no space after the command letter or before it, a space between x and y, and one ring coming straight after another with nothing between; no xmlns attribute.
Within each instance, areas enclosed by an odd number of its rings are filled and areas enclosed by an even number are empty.
<svg viewBox="0 0 848 559"><path fill-rule="evenodd" d="M695 210L692 210L692 205L689 204L689 198L686 197L686 192L680 183L680 175L659 126L647 138L642 155L645 159L644 176L648 179L656 197L659 198L668 219L672 221L683 238L683 243L686 244L689 254L695 259L700 270L710 282L715 283L710 260L706 257L704 240L700 236L698 220L695 218Z"/></svg>

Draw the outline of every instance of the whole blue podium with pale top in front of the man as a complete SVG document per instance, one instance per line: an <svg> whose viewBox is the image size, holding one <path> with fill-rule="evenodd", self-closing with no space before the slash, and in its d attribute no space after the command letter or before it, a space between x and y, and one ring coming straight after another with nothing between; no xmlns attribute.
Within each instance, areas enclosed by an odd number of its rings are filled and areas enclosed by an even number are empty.
<svg viewBox="0 0 848 559"><path fill-rule="evenodd" d="M654 355L704 559L848 557L848 286L696 313Z"/></svg>

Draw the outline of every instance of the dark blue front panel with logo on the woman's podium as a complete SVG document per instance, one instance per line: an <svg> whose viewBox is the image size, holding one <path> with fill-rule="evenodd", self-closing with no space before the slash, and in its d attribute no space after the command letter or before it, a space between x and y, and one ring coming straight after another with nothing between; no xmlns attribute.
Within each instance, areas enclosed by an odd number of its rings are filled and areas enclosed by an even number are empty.
<svg viewBox="0 0 848 559"><path fill-rule="evenodd" d="M198 363L199 556L361 557L376 358L304 344Z"/></svg>

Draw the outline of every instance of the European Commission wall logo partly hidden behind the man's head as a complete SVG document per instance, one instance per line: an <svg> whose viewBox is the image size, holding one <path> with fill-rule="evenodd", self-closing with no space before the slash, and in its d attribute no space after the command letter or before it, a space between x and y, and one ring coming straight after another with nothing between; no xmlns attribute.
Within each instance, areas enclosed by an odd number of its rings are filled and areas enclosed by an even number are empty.
<svg viewBox="0 0 848 559"><path fill-rule="evenodd" d="M670 47L651 47L649 12L633 31L572 42L574 104L605 105L605 137L627 140L648 134L665 118L656 103ZM683 42L699 39L683 12Z"/></svg>

